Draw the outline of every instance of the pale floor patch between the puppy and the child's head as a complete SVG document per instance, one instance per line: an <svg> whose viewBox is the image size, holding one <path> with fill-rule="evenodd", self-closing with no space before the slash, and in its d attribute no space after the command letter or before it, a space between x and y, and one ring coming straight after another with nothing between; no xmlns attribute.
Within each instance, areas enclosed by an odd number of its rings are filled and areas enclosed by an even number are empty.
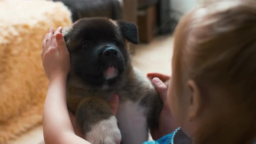
<svg viewBox="0 0 256 144"><path fill-rule="evenodd" d="M171 75L171 56L174 38L158 36L150 44L140 44L135 51L134 65L145 74L160 72Z"/></svg>

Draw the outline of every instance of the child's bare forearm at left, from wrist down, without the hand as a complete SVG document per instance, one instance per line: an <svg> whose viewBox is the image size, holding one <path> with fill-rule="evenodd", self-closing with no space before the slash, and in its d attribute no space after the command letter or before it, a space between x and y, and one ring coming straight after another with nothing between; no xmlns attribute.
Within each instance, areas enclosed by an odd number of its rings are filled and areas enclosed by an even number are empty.
<svg viewBox="0 0 256 144"><path fill-rule="evenodd" d="M66 78L49 82L43 110L43 134L46 144L89 144L75 135L66 106Z"/></svg>

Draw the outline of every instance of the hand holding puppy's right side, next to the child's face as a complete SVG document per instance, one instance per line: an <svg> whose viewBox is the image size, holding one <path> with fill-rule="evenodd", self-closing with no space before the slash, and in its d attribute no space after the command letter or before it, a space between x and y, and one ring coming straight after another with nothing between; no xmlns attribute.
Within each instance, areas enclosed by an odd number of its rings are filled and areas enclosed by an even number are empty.
<svg viewBox="0 0 256 144"><path fill-rule="evenodd" d="M159 128L151 131L152 138L154 140L158 140L159 138L173 132L178 128L174 118L171 115L171 109L169 108L167 101L167 86L164 84L164 82L171 79L171 77L169 75L163 75L160 73L148 73L147 76L149 79L151 79L156 91L163 101L163 109L159 115Z"/></svg>

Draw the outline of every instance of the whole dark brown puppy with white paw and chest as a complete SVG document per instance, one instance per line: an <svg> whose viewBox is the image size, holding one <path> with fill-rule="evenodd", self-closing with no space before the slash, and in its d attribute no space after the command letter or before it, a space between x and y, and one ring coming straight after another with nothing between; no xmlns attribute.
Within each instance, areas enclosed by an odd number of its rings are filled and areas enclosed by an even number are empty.
<svg viewBox="0 0 256 144"><path fill-rule="evenodd" d="M162 102L151 82L132 66L128 43L138 44L133 23L83 18L63 30L71 56L67 104L92 144L142 144L158 127ZM114 116L107 101L118 94Z"/></svg>

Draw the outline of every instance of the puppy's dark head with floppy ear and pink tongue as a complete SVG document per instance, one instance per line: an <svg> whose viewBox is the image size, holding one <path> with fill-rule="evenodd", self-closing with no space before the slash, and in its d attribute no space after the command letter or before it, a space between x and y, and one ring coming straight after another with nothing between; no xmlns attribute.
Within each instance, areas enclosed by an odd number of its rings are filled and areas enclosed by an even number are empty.
<svg viewBox="0 0 256 144"><path fill-rule="evenodd" d="M94 87L118 85L131 69L128 42L138 44L133 23L104 18L75 22L64 38L71 56L71 71Z"/></svg>

